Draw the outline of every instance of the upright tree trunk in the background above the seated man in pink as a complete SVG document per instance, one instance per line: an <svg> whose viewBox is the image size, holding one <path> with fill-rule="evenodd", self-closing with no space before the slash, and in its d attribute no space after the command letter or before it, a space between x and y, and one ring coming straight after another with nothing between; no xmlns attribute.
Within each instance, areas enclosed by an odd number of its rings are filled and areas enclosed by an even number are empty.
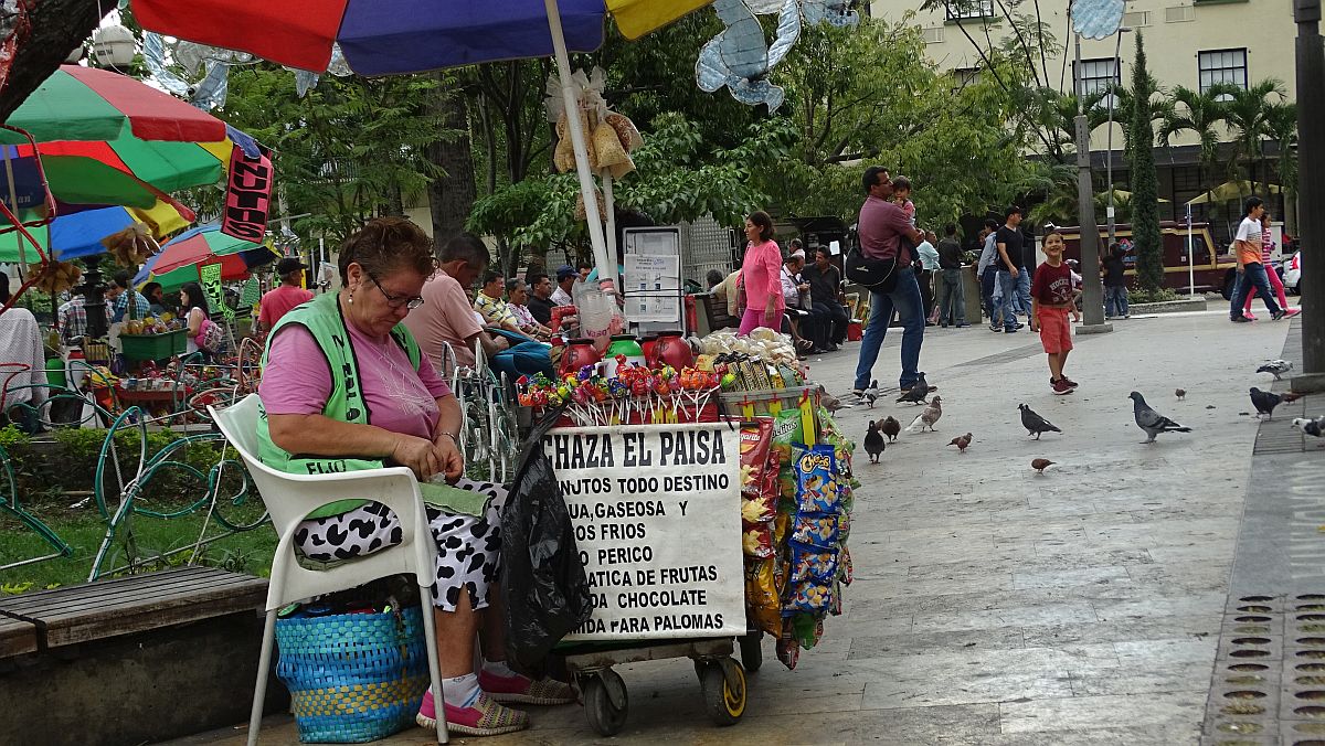
<svg viewBox="0 0 1325 746"><path fill-rule="evenodd" d="M428 146L425 156L443 170L428 184L428 207L432 212L432 241L439 249L465 231L465 221L474 207L474 160L469 142L469 109L454 76L432 73L439 86L428 106L440 114L443 126L458 133L454 138Z"/></svg>

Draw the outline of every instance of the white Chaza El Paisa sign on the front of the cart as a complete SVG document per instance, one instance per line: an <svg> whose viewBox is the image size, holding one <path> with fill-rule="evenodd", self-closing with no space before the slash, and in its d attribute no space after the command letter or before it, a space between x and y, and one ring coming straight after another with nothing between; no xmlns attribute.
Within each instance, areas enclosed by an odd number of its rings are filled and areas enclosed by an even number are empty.
<svg viewBox="0 0 1325 746"><path fill-rule="evenodd" d="M594 602L567 641L745 633L737 429L556 428L543 452Z"/></svg>

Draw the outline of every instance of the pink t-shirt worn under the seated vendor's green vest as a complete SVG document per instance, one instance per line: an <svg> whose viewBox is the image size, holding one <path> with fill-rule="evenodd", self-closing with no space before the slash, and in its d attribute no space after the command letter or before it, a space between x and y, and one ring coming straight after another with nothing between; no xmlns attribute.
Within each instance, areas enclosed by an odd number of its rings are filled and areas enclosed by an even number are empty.
<svg viewBox="0 0 1325 746"><path fill-rule="evenodd" d="M437 427L437 398L450 387L424 356L419 372L392 338L367 337L355 326L350 345L359 364L359 383L368 423L391 432L432 439ZM269 415L321 415L331 396L331 370L313 333L289 325L272 339L258 395Z"/></svg>

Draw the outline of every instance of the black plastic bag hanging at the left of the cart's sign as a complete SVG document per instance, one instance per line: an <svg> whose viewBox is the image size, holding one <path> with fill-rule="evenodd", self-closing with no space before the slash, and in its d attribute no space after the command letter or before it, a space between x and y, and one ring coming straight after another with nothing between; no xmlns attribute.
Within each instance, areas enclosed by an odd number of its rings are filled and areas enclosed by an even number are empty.
<svg viewBox="0 0 1325 746"><path fill-rule="evenodd" d="M506 655L530 673L594 611L562 488L543 453L559 415L549 412L530 435L501 513Z"/></svg>

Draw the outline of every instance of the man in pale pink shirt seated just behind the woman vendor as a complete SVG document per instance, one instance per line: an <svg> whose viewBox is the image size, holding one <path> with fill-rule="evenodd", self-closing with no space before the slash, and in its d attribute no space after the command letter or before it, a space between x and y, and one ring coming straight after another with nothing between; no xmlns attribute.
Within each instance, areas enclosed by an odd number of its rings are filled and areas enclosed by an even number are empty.
<svg viewBox="0 0 1325 746"><path fill-rule="evenodd" d="M490 261L488 246L477 236L462 233L447 241L437 272L423 286L423 305L403 322L439 374L450 372L445 345L450 345L457 366L470 368L476 345L482 345L489 358L506 347L505 339L492 339L484 333L465 294L465 288L474 284Z"/></svg>

